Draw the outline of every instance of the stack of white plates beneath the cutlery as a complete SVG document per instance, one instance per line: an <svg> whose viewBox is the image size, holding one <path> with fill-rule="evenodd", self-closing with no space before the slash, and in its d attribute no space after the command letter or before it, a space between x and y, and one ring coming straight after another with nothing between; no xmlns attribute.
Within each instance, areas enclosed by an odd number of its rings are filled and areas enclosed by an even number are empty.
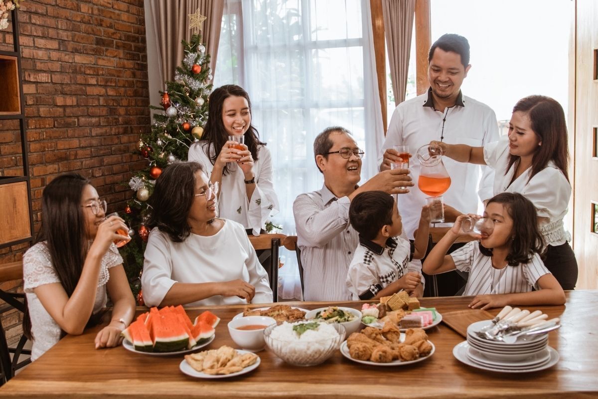
<svg viewBox="0 0 598 399"><path fill-rule="evenodd" d="M504 373L544 370L559 361L559 353L548 346L548 333L521 336L514 343L476 334L489 325L492 325L490 320L469 325L467 340L454 347L454 357L472 367Z"/></svg>

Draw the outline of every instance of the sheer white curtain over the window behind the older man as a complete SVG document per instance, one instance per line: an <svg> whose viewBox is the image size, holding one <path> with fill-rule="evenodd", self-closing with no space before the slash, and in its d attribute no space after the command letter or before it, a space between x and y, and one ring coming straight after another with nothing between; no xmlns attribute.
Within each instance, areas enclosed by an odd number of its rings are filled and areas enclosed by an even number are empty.
<svg viewBox="0 0 598 399"><path fill-rule="evenodd" d="M236 83L252 101L252 121L268 143L283 233L296 234L292 203L319 190L313 140L343 126L366 156L362 181L376 173L383 126L374 66L369 1L227 0L215 87ZM300 298L295 255L285 266L280 296Z"/></svg>

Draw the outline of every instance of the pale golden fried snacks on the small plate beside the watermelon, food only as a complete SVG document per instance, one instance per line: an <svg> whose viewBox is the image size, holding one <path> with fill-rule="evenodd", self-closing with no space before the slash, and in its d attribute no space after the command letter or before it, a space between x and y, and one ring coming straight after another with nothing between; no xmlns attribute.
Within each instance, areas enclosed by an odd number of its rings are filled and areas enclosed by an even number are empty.
<svg viewBox="0 0 598 399"><path fill-rule="evenodd" d="M254 364L258 355L240 354L230 346L224 345L218 349L185 355L185 360L196 371L206 374L231 374Z"/></svg>

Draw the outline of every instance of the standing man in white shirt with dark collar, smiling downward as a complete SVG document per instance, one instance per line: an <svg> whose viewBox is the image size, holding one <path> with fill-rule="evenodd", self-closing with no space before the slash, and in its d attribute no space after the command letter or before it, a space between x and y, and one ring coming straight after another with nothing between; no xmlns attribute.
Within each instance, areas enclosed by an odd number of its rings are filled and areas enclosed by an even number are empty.
<svg viewBox="0 0 598 399"><path fill-rule="evenodd" d="M432 140L482 147L499 138L492 108L461 92L463 79L471 69L467 39L453 33L441 36L432 44L428 62L430 88L427 93L396 107L379 157L380 170L390 169L392 162L400 162L398 153L393 150L395 145L408 145L413 155ZM486 166L463 166L447 157L443 162L451 178L451 186L443 194L444 203L457 211L447 208L446 220L454 220L460 213L477 213L478 199L484 201L493 196L493 170ZM397 204L403 229L413 239L419 223L419 210L426 197L417 187L420 163L414 156L410 159L409 172L415 185L408 195L398 196Z"/></svg>

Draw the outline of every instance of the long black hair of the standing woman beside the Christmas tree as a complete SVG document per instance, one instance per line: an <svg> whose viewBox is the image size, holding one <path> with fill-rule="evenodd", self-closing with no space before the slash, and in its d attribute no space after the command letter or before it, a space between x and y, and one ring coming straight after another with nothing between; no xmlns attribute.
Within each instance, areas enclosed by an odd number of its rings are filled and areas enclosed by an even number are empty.
<svg viewBox="0 0 598 399"><path fill-rule="evenodd" d="M208 99L208 121L203 129L202 139L207 142L200 144L203 145L203 151L208 155L212 165L216 163L220 149L224 146L224 143L228 140L228 133L224 129L224 123L222 123L222 106L224 106L224 100L230 96L243 97L247 100L249 105L249 113L251 114L251 100L249 100L249 94L240 86L236 84L225 84L224 86L218 87L214 90ZM258 160L258 145L266 145L266 143L260 141L260 133L255 129L252 123L249 123L249 128L244 134L245 145L251 152L251 156L254 161ZM209 153L210 144L213 145L213 154ZM230 170L228 166L224 167L222 173L227 175Z"/></svg>

